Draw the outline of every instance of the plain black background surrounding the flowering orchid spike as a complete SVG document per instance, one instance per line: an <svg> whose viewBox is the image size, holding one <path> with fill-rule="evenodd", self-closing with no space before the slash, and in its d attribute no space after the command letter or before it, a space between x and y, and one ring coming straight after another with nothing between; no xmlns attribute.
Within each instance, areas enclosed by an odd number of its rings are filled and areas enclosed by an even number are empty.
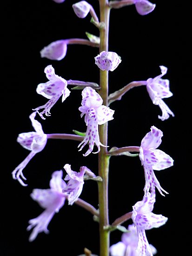
<svg viewBox="0 0 192 256"><path fill-rule="evenodd" d="M66 0L57 4L52 0L7 1L1 9L3 67L1 86L1 137L3 156L1 170L1 235L0 255L65 255L77 256L87 247L99 254L98 223L84 209L75 204L65 206L55 214L48 229L49 235L40 234L33 243L28 242L27 222L43 209L34 202L30 193L34 188L49 187L51 174L66 163L75 171L86 165L97 174L97 155L83 157L77 141L48 140L45 149L35 155L24 169L28 186L22 187L12 179L11 172L29 153L16 138L19 133L32 131L28 116L32 108L45 104L46 98L36 93L40 82L46 82L44 68L53 65L55 73L66 80L99 83L99 68L94 64L97 48L69 45L65 59L50 61L40 58L40 50L55 40L86 38L85 31L99 35L91 24L90 15L79 19L72 4ZM89 1L99 13L99 2ZM156 0L155 10L140 16L134 6L111 11L109 50L117 52L122 62L109 72L109 93L131 81L146 80L160 74L159 65L168 67L164 78L170 80L171 98L165 99L175 117L158 119L160 108L152 104L145 87L134 88L110 105L115 110L109 122L110 147L140 146L140 141L155 125L164 133L159 149L171 155L174 166L156 171L160 184L169 195L157 192L153 212L168 217L166 225L146 232L149 243L158 250L158 256L188 255L184 253L192 239L187 235L190 194L189 146L191 119L190 106L190 26L187 7L180 1ZM3 33L3 34L2 34ZM68 87L70 89L70 87ZM63 103L58 101L51 109L51 117L40 120L44 132L73 133L85 131L80 118L81 91L72 91ZM65 176L65 174L64 174ZM132 210L142 199L144 171L139 158L112 157L109 175L110 222ZM97 208L97 184L87 181L80 198ZM187 203L188 202L188 203ZM127 227L131 221L125 222ZM111 234L111 244L120 241L121 233ZM182 252L182 253L181 253ZM189 252L189 251L188 251Z"/></svg>

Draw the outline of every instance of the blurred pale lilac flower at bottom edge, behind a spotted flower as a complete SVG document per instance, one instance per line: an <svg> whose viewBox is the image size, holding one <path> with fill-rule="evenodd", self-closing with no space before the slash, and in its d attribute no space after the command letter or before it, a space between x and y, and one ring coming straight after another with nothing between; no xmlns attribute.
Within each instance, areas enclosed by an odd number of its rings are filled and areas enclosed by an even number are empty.
<svg viewBox="0 0 192 256"><path fill-rule="evenodd" d="M110 247L110 255L111 256L139 256L139 252L137 251L138 245L138 233L137 228L134 224L128 226L128 230L130 232L123 233L121 236L121 242L113 244ZM157 253L152 244L149 244L152 255Z"/></svg>

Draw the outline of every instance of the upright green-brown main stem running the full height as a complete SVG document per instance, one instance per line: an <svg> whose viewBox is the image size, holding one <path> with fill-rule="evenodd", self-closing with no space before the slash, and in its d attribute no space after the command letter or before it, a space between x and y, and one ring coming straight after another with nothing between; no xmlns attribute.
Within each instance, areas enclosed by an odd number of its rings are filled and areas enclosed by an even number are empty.
<svg viewBox="0 0 192 256"><path fill-rule="evenodd" d="M105 26L100 27L100 46L99 52L108 51L108 33L109 33L109 15L110 7L108 0L100 0L100 22ZM108 105L108 71L100 70L100 91L99 94L103 99L103 104ZM107 122L99 125L99 138L102 144L107 145ZM109 156L107 149L101 147L99 152L99 176L103 182L98 182L99 189L99 238L100 238L100 256L109 255L109 231L104 229L109 224L108 216L108 171Z"/></svg>

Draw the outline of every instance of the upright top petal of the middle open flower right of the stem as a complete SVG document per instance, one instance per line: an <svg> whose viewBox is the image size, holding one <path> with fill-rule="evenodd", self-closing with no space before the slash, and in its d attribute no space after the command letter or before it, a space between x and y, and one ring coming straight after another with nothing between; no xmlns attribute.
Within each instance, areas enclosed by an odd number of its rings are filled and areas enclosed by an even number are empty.
<svg viewBox="0 0 192 256"><path fill-rule="evenodd" d="M163 132L156 128L155 126L151 127L151 131L146 134L146 136L141 141L141 147L143 149L154 149L158 148L161 144L161 137L163 136Z"/></svg>

